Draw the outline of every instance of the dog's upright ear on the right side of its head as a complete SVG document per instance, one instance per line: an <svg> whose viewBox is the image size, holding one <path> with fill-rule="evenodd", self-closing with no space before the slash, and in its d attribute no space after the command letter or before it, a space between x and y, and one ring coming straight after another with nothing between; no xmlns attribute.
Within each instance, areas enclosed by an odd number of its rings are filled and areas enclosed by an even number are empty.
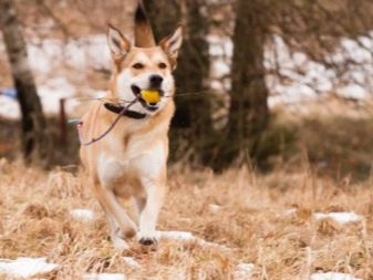
<svg viewBox="0 0 373 280"><path fill-rule="evenodd" d="M174 31L173 34L164 38L159 42L160 48L168 55L168 60L172 64L173 70L176 69L177 55L182 48L182 42L183 42L183 25L180 23L176 27L176 30Z"/></svg>

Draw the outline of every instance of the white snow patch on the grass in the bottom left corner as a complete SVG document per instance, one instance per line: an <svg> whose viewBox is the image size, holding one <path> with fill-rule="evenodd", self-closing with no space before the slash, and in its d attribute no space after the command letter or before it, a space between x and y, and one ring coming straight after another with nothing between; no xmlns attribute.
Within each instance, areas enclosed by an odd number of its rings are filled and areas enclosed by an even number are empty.
<svg viewBox="0 0 373 280"><path fill-rule="evenodd" d="M46 262L45 258L0 259L0 272L11 277L33 277L51 272L58 267L58 265Z"/></svg>

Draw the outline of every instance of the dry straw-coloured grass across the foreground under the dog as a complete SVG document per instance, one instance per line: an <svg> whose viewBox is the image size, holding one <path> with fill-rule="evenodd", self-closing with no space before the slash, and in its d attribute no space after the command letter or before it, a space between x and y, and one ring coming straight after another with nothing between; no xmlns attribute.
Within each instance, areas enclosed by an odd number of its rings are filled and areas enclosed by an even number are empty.
<svg viewBox="0 0 373 280"><path fill-rule="evenodd" d="M256 265L252 279L308 279L320 269L373 279L371 183L322 179L307 166L266 176L170 170L159 229L189 230L231 250L166 240L146 250L133 240L132 249L121 252L107 240L102 211L79 176L1 160L0 257L45 256L61 265L46 279L80 279L87 271L124 272L128 279L234 279L240 262ZM211 211L210 204L221 208ZM286 215L290 207L298 212ZM100 215L86 224L71 218L73 208ZM332 210L353 210L364 221L342 227L312 218L313 211Z"/></svg>

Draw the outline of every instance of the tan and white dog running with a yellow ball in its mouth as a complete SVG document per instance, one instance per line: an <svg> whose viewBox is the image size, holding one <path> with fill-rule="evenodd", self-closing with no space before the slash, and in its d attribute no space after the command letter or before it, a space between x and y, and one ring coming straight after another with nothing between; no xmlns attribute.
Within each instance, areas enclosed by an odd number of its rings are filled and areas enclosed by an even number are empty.
<svg viewBox="0 0 373 280"><path fill-rule="evenodd" d="M141 4L135 17L135 45L117 29L108 27L107 42L114 72L107 100L138 98L115 127L92 145L81 146L86 183L103 207L115 247L127 248L125 238L137 235L142 245L157 241L156 222L167 191L168 127L175 105L172 72L182 45L183 30L155 43ZM159 100L147 102L142 91L157 91ZM81 136L101 135L123 106L97 102L83 116ZM134 198L138 222L134 222L118 198Z"/></svg>

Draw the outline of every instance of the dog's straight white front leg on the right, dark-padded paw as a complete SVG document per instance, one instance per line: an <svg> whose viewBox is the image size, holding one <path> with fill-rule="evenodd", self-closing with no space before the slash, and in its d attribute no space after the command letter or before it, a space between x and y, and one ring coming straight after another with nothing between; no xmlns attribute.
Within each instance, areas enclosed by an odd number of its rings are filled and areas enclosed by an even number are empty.
<svg viewBox="0 0 373 280"><path fill-rule="evenodd" d="M164 180L143 178L142 184L146 191L146 203L139 215L138 241L148 246L157 242L156 224L158 214L166 196Z"/></svg>

